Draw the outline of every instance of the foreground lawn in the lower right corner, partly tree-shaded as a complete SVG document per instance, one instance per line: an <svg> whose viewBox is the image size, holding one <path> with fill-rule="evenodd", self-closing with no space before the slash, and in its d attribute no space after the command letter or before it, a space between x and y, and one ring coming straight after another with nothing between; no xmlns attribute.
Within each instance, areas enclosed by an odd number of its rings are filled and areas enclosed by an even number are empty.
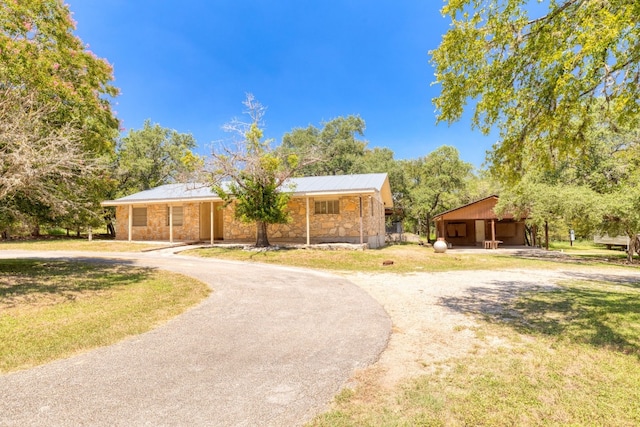
<svg viewBox="0 0 640 427"><path fill-rule="evenodd" d="M505 344L392 391L344 392L310 425L640 424L640 283L575 280L476 308L476 335Z"/></svg>

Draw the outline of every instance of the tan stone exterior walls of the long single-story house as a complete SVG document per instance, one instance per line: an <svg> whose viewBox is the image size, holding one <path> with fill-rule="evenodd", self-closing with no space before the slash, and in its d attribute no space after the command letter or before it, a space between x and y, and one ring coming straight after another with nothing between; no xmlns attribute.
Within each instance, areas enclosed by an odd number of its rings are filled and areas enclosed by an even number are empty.
<svg viewBox="0 0 640 427"><path fill-rule="evenodd" d="M309 199L310 243L360 243L360 197L336 197L339 200L338 214L316 214L316 200ZM334 199L335 200L335 199ZM175 205L178 206L178 205ZM173 227L174 241L200 240L200 203L183 205L184 220L182 226ZM138 206L137 206L138 207ZM143 206L140 206L143 207ZM132 240L169 241L167 225L167 205L149 204L146 227L132 227ZM362 229L364 243L376 248L384 245L384 205L378 195L362 197ZM223 208L223 239L230 242L255 242L255 224L244 224L234 218L234 205ZM296 198L289 202L292 221L288 224L273 224L269 227L269 241L306 243L307 219L306 199ZM129 207L116 208L116 239L127 240L129 227Z"/></svg>

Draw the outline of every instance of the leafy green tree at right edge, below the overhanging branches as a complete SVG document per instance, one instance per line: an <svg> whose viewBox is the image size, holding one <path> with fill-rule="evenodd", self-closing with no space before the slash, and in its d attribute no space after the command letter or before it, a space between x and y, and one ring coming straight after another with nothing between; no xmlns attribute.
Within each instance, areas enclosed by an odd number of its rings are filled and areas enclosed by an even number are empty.
<svg viewBox="0 0 640 427"><path fill-rule="evenodd" d="M585 132L577 159L528 171L505 188L498 210L513 211L538 227L575 229L579 236L628 236L631 261L640 249L635 247L640 233L640 132L616 126L601 109L590 120L596 127Z"/></svg>

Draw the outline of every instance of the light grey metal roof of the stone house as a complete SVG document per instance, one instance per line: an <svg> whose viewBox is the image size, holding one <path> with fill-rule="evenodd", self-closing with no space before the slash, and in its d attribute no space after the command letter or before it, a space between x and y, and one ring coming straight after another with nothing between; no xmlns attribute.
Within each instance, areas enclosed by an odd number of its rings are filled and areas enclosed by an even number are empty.
<svg viewBox="0 0 640 427"><path fill-rule="evenodd" d="M386 173L291 178L285 184L285 188L286 191L291 191L294 196L298 197L379 191L385 206L393 205ZM102 204L104 206L117 206L198 200L220 200L220 197L211 190L209 185L204 183L166 184L116 200L107 200Z"/></svg>

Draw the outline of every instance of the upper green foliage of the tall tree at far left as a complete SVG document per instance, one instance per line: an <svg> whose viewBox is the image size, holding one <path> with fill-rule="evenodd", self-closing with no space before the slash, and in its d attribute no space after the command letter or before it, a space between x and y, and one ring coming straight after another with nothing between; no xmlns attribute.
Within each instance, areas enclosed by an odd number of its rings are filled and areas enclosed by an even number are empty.
<svg viewBox="0 0 640 427"><path fill-rule="evenodd" d="M118 130L110 98L113 68L73 34L69 7L59 0L0 4L0 85L53 103L52 128L74 122L85 149L109 153Z"/></svg>

